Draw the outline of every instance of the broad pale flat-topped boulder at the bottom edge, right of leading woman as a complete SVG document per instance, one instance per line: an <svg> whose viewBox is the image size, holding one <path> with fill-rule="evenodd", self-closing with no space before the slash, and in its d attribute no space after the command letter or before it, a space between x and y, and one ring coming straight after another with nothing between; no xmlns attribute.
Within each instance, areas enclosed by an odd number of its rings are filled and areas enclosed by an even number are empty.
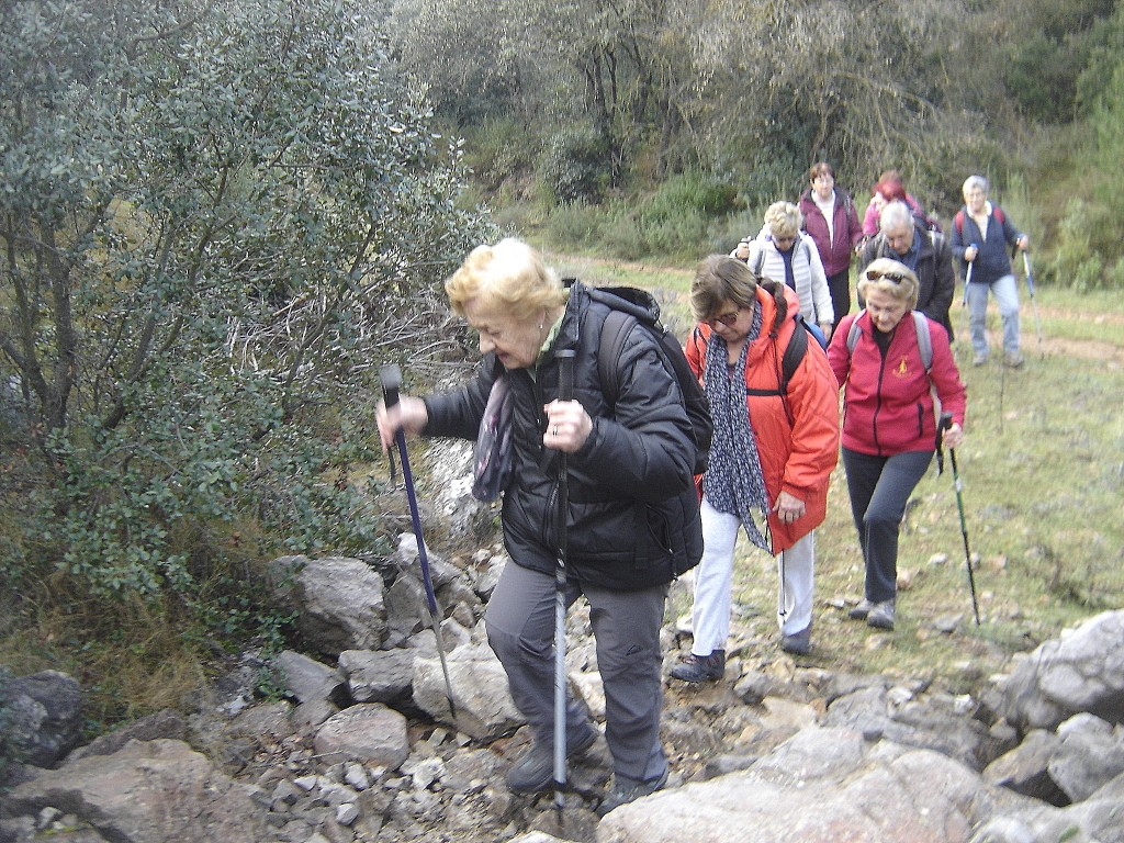
<svg viewBox="0 0 1124 843"><path fill-rule="evenodd" d="M749 770L611 812L599 843L967 843L1022 797L968 767L858 732L806 728Z"/></svg>

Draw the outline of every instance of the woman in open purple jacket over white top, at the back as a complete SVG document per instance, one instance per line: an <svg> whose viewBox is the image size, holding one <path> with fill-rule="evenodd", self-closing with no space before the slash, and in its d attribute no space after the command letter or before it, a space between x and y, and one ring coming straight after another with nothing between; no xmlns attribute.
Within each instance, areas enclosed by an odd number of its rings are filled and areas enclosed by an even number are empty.
<svg viewBox="0 0 1124 843"><path fill-rule="evenodd" d="M835 172L826 161L812 165L812 182L800 197L804 228L816 244L827 275L835 325L851 311L851 255L862 239L854 202L835 187Z"/></svg>

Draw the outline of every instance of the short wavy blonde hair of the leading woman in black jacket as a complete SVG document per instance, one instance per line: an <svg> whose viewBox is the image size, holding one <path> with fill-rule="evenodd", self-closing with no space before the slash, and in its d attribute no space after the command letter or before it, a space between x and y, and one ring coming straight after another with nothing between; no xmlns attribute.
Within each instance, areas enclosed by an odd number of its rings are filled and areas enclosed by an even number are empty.
<svg viewBox="0 0 1124 843"><path fill-rule="evenodd" d="M475 300L488 310L529 319L565 303L562 282L542 255L520 239L506 237L495 246L477 246L445 281L448 303L459 315Z"/></svg>

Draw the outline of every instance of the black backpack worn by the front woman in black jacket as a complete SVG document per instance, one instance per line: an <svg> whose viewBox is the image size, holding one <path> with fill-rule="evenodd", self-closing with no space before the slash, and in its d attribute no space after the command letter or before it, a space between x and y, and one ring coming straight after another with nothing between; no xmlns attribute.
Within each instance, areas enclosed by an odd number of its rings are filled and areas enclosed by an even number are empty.
<svg viewBox="0 0 1124 843"><path fill-rule="evenodd" d="M617 375L614 364L620 359L625 337L634 324L638 324L656 341L656 347L663 357L663 364L671 372L679 391L683 396L687 419L691 423L695 435L694 473L706 471L710 455L710 441L714 437L714 424L710 420L710 405L703 387L691 371L690 363L683 354L679 339L660 321L660 305L645 290L635 287L593 287L589 296L610 308L601 328L601 339L597 353L597 372L601 381L601 391L609 404L617 399Z"/></svg>

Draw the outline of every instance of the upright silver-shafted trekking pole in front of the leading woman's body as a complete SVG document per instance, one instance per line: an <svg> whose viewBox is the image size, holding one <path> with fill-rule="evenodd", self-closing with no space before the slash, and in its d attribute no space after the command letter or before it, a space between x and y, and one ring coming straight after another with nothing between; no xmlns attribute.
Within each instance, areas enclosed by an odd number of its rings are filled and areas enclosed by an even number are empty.
<svg viewBox="0 0 1124 843"><path fill-rule="evenodd" d="M573 348L558 352L559 400L573 400ZM565 807L565 584L570 513L569 459L565 451L559 457L559 555L554 565L554 807L559 826Z"/></svg>

